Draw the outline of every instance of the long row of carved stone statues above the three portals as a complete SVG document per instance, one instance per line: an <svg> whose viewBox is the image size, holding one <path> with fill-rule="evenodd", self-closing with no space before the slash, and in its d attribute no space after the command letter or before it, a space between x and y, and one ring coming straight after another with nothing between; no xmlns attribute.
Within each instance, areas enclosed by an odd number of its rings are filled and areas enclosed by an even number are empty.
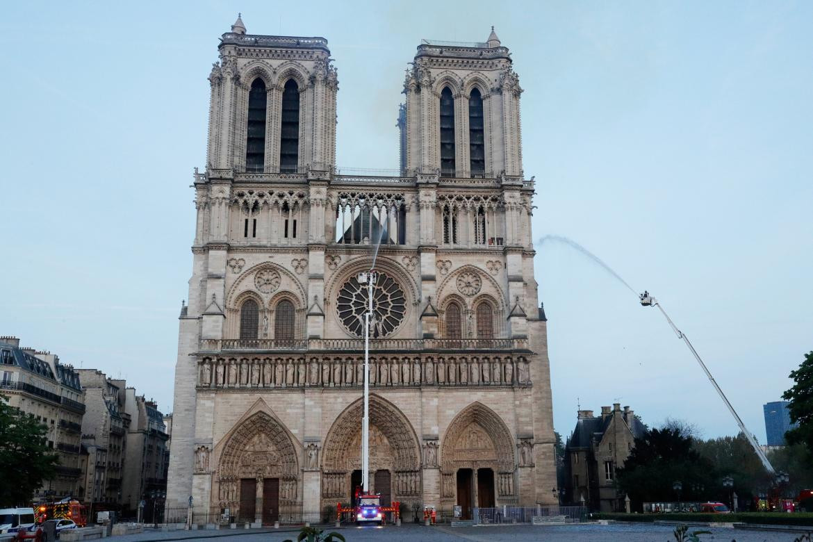
<svg viewBox="0 0 813 542"><path fill-rule="evenodd" d="M198 385L204 388L283 388L360 386L363 358L203 358ZM512 385L531 384L528 359L376 358L370 360L370 385Z"/></svg>

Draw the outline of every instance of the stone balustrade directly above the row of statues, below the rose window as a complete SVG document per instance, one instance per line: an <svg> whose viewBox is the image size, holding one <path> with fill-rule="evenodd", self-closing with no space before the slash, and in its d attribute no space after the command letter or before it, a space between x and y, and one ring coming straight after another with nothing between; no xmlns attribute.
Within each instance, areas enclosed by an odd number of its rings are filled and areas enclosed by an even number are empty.
<svg viewBox="0 0 813 542"><path fill-rule="evenodd" d="M324 351L362 352L363 339L203 339L204 352L232 351ZM528 339L372 339L371 352L402 351L528 351Z"/></svg>

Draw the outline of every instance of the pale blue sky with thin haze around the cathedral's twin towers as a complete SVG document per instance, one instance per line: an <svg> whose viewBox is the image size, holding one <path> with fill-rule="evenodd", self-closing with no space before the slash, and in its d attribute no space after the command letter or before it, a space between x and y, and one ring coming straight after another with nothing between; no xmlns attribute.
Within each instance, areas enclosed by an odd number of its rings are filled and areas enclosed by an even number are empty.
<svg viewBox="0 0 813 542"><path fill-rule="evenodd" d="M764 442L763 403L813 349L811 2L6 2L0 335L172 410L206 78L237 11L328 38L342 167L398 167L421 38L493 24L525 90L535 238L663 301ZM562 243L536 272L557 430L620 402L737 432L657 309Z"/></svg>

